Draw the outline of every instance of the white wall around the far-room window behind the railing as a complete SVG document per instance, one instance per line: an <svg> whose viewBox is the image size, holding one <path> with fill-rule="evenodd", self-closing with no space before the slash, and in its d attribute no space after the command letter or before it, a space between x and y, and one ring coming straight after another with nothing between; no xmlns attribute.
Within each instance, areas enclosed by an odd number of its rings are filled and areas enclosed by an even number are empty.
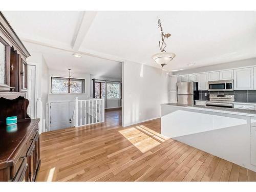
<svg viewBox="0 0 256 192"><path fill-rule="evenodd" d="M91 86L90 97L93 97L93 81L92 81L93 78L98 79L98 80L122 81L122 79L119 79L119 78L101 77L101 76L91 75L91 78L90 78L90 86ZM105 104L105 109L120 108L121 106L122 106L121 99L107 99L106 104Z"/></svg>

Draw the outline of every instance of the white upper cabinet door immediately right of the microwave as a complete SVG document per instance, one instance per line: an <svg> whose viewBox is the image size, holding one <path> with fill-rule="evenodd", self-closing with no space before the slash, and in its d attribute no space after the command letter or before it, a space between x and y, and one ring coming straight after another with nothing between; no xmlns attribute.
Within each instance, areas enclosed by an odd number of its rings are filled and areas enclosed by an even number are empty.
<svg viewBox="0 0 256 192"><path fill-rule="evenodd" d="M253 68L234 70L234 90L253 90Z"/></svg>

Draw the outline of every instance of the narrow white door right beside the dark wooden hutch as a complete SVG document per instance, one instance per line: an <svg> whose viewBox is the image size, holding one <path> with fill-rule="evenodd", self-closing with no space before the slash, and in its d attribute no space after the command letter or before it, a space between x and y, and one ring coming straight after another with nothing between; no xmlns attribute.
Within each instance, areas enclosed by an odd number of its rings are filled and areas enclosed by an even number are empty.
<svg viewBox="0 0 256 192"><path fill-rule="evenodd" d="M28 65L27 99L29 100L27 113L32 119L34 119L35 118L35 66L32 66L32 65Z"/></svg>

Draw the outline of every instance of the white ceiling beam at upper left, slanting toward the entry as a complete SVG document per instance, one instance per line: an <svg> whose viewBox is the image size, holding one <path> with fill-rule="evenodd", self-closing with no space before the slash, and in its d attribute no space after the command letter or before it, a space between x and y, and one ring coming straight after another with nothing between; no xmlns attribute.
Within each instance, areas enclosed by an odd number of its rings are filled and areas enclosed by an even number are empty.
<svg viewBox="0 0 256 192"><path fill-rule="evenodd" d="M83 39L88 33L96 15L97 11L83 11L81 19L79 20L77 31L73 38L73 50L78 51L81 47Z"/></svg>

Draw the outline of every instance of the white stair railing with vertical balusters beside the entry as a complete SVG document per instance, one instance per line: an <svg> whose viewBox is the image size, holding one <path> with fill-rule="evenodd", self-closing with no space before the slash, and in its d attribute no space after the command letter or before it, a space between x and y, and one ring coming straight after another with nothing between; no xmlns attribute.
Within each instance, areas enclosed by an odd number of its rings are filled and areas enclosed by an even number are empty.
<svg viewBox="0 0 256 192"><path fill-rule="evenodd" d="M75 127L104 122L104 99L75 100Z"/></svg>

